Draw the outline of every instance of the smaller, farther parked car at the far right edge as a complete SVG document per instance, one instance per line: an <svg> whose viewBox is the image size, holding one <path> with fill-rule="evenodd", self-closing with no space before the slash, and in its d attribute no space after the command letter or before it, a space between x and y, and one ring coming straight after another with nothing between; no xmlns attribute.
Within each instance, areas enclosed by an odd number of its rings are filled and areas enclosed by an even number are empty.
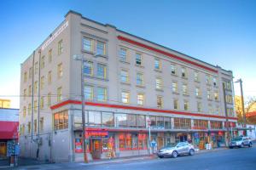
<svg viewBox="0 0 256 170"><path fill-rule="evenodd" d="M253 146L252 140L249 137L246 137L246 136L236 137L232 139L229 144L230 149L234 147L243 148L244 146L248 146L248 147Z"/></svg>

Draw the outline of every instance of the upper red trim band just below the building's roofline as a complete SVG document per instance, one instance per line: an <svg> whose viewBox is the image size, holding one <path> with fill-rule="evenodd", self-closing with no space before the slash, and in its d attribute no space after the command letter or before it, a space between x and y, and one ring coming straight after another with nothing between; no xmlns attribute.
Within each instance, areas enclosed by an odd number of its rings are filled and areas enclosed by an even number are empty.
<svg viewBox="0 0 256 170"><path fill-rule="evenodd" d="M179 56L177 56L175 54L170 54L170 53L167 53L167 52L162 51L160 49L150 47L150 46L145 45L145 44L143 44L141 42L136 42L134 40L131 40L131 39L127 38L127 37L118 36L118 39L121 40L121 41L124 41L124 42L129 42L131 44L137 45L137 46L142 47L142 48L149 49L149 50L154 51L154 52L159 53L159 54L164 54L164 55L166 55L168 57L171 57L172 59L181 60L181 61L183 61L185 63L189 63L190 65L195 65L195 66L201 67L201 68L203 68L203 69L205 69L207 71L212 71L212 72L215 72L215 73L218 72L218 71L216 71L216 70L214 70L212 68L209 68L209 67L207 67L205 65L200 65L200 64L198 64L198 63L196 63L194 61L190 61L189 59L183 59L183 58L181 58L181 57L179 57Z"/></svg>

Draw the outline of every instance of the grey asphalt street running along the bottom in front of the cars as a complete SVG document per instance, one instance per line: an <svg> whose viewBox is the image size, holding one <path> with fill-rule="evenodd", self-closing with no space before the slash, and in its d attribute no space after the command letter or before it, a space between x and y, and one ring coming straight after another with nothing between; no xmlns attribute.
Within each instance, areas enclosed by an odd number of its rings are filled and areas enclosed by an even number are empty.
<svg viewBox="0 0 256 170"><path fill-rule="evenodd" d="M103 163L98 165L84 163L60 163L40 165L37 167L18 167L17 169L256 169L256 147L209 151L195 156L179 156L174 158L156 158L153 160L125 161Z"/></svg>

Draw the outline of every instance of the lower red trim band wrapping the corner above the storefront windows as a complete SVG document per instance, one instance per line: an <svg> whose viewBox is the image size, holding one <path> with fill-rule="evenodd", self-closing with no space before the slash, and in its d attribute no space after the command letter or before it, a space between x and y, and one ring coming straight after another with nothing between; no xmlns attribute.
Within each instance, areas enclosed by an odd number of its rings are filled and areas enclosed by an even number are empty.
<svg viewBox="0 0 256 170"><path fill-rule="evenodd" d="M81 105L81 104L82 104L82 102L78 101L78 100L66 100L57 105L52 105L50 107L50 109L55 110L64 105ZM115 108L115 109L136 110L136 111L153 111L153 112L170 113L170 114L185 115L185 116L204 116L204 117L213 117L213 118L222 118L222 119L226 118L225 116L205 115L205 114L200 114L200 113L189 113L189 112L183 112L183 111L151 109L151 108L128 106L128 105L113 105L113 104L102 104L102 103L95 103L95 102L85 102L85 105L108 107L108 108ZM237 120L236 117L228 117L228 118L231 120Z"/></svg>

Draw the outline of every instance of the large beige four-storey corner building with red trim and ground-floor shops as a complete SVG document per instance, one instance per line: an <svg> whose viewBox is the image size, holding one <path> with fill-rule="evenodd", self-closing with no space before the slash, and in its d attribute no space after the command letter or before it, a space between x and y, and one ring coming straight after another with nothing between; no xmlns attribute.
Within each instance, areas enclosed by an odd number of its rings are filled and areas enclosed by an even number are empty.
<svg viewBox="0 0 256 170"><path fill-rule="evenodd" d="M83 160L81 74L90 160L148 154L148 120L158 147L224 145L223 82L236 126L231 71L69 11L21 65L21 156Z"/></svg>

